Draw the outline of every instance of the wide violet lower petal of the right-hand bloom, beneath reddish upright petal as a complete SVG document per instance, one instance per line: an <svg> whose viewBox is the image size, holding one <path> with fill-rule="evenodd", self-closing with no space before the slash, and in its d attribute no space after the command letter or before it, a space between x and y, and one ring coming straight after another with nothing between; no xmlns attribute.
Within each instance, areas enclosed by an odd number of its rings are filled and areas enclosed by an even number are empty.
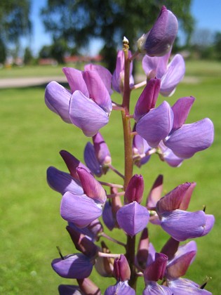
<svg viewBox="0 0 221 295"><path fill-rule="evenodd" d="M208 217L203 211L165 212L161 215L161 227L175 240L182 242L206 235L213 228L215 221L214 217L210 216Z"/></svg>

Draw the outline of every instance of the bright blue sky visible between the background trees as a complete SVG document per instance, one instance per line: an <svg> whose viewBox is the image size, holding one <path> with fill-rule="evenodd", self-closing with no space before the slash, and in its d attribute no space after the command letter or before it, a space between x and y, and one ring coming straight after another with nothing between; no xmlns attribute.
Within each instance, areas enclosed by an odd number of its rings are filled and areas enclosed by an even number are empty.
<svg viewBox="0 0 221 295"><path fill-rule="evenodd" d="M50 34L44 31L40 18L40 9L45 4L46 0L32 0L31 19L33 22L33 34L29 41L22 41L23 46L28 44L35 55L43 45L51 44ZM221 32L221 0L192 0L191 9L196 19L197 28ZM99 51L101 46L100 41L93 42L91 44L91 55Z"/></svg>

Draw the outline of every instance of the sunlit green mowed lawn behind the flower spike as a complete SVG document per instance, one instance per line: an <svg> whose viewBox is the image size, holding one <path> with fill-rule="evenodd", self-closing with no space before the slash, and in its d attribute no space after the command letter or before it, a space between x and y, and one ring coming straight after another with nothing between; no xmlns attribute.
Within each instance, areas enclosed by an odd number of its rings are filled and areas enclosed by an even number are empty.
<svg viewBox="0 0 221 295"><path fill-rule="evenodd" d="M28 76L22 74L18 76ZM48 73L58 74L58 68ZM5 70L4 70L5 71ZM6 73L6 72L5 72ZM12 72L9 77L15 77ZM38 68L33 76L41 75ZM8 74L7 74L8 75ZM31 74L30 74L31 75ZM0 77L6 77L0 70ZM8 77L8 76L7 76ZM61 196L48 188L46 169L55 166L67 171L59 155L60 150L68 150L83 161L83 148L91 138L86 138L75 126L65 124L60 117L48 110L44 104L45 86L22 89L0 89L0 294L58 294L59 284L72 284L56 275L51 261L57 258L59 246L62 254L76 251L65 230L66 222L60 217ZM134 91L132 105L141 90ZM215 226L209 235L196 239L198 253L189 268L190 280L201 284L211 277L206 289L219 294L221 288L221 63L188 62L186 79L178 86L172 98L173 105L183 96L194 96L196 101L187 122L196 122L204 117L212 119L215 125L215 141L210 149L199 152L182 166L173 169L153 155L141 169L145 178L145 195L149 192L156 176L164 176L163 191L166 193L185 181L196 181L189 211L201 210L206 205L206 213L215 215ZM160 97L158 103L165 98ZM118 94L113 100L120 102ZM133 107L131 107L133 110ZM112 164L123 172L123 140L120 112L112 112L110 122L101 130L112 153ZM103 178L105 181L122 183L112 171ZM120 230L109 233L124 240ZM160 251L168 235L159 227L149 225L149 237ZM112 251L121 253L121 247ZM102 293L113 279L103 279L93 272L93 280ZM142 294L144 283L138 280L138 294Z"/></svg>

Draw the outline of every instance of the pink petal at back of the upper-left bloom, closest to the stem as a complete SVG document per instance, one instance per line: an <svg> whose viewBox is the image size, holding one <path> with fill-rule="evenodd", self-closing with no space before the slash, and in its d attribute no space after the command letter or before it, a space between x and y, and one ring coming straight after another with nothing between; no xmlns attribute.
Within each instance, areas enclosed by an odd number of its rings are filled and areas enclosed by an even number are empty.
<svg viewBox="0 0 221 295"><path fill-rule="evenodd" d="M100 78L105 84L105 87L107 88L107 91L109 92L109 95L112 95L112 74L111 72L109 72L109 70L106 69L106 67L102 67L102 65L93 65L92 63L90 63L84 66L84 70L98 72Z"/></svg>

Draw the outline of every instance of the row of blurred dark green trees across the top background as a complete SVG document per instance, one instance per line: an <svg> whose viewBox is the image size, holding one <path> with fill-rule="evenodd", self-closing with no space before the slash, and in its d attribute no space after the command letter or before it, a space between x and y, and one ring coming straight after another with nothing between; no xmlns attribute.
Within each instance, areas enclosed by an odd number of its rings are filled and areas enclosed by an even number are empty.
<svg viewBox="0 0 221 295"><path fill-rule="evenodd" d="M185 37L183 46L176 40L174 51L188 48L201 58L221 59L221 33L217 32L210 41L203 41L206 34L194 37L194 18L191 0L48 0L40 15L46 32L53 37L51 46L43 46L39 58L54 58L64 63L65 54L81 54L88 48L91 39L103 40L101 54L109 70L115 66L119 40L126 36L130 48L138 37L148 32L156 20L162 5L173 11L179 20ZM32 34L30 19L31 1L1 0L0 6L0 63L4 63L9 46L19 46L20 37ZM205 32L204 32L205 33ZM25 49L25 63L33 60L32 51Z"/></svg>

